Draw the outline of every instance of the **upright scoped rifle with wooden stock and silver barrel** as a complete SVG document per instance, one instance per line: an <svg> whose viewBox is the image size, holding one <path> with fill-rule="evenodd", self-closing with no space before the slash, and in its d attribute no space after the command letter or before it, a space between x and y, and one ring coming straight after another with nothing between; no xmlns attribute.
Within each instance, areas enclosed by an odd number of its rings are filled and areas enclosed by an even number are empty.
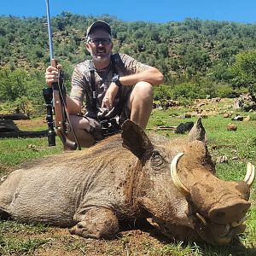
<svg viewBox="0 0 256 256"><path fill-rule="evenodd" d="M53 44L52 44L52 32L50 25L49 16L49 0L45 0L46 3L46 14L47 14L47 26L48 26L48 36L49 36L49 56L50 63L52 67L57 67L57 61L53 54ZM63 80L63 73L58 69L58 82L52 83L51 88L43 89L44 101L46 103L47 115L46 120L48 124L48 143L49 146L55 146L55 134L61 138L64 150L75 150L79 147L79 142L73 130L73 125L69 119L67 113L66 104L66 89ZM53 119L53 113L55 113L55 120ZM67 137L67 133L71 131L75 142Z"/></svg>

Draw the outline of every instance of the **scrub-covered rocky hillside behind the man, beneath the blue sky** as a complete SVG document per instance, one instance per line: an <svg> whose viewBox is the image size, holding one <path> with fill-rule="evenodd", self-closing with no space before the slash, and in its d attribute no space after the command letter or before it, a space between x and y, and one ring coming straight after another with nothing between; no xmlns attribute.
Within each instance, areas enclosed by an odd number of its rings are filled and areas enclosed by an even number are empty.
<svg viewBox="0 0 256 256"><path fill-rule="evenodd" d="M96 19L113 27L113 51L133 55L169 74L205 74L229 65L234 56L256 47L256 25L187 19L164 24L124 22L62 13L52 18L55 57L68 64L88 57L84 49L86 27ZM49 63L46 19L0 17L1 66L44 68Z"/></svg>

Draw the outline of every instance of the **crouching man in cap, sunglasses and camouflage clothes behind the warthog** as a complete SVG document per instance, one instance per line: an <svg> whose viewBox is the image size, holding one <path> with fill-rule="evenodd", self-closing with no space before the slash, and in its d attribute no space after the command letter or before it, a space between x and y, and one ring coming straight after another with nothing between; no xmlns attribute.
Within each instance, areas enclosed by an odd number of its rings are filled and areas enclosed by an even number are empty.
<svg viewBox="0 0 256 256"><path fill-rule="evenodd" d="M90 147L108 136L125 119L145 129L152 110L152 85L161 84L163 74L128 55L112 55L111 28L102 20L88 27L86 49L92 61L86 60L74 68L72 90L67 96L67 112L81 147ZM57 68L46 69L49 86L57 80Z"/></svg>

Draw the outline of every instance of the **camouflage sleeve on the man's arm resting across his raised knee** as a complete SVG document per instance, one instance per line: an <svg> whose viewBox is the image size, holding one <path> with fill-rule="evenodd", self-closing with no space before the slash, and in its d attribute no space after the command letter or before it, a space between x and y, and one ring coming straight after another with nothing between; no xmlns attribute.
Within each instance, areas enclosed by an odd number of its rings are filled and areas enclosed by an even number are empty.
<svg viewBox="0 0 256 256"><path fill-rule="evenodd" d="M150 66L143 64L129 55L122 54L120 58L125 66L126 74L141 73L148 69Z"/></svg>

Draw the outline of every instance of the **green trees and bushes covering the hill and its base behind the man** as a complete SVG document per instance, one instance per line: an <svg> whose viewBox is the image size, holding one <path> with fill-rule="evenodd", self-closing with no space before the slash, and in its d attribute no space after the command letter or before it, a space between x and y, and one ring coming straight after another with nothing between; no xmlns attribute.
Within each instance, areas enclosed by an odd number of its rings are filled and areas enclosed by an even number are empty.
<svg viewBox="0 0 256 256"><path fill-rule="evenodd" d="M194 98L196 90L196 97L201 98L233 96L231 86L255 90L255 24L189 18L162 24L125 22L109 15L62 12L53 16L51 23L55 58L64 68L67 91L74 65L90 58L84 32L95 20L112 26L113 52L124 52L158 67L165 75L165 84L173 88L172 97ZM41 91L49 65L45 22L45 17L0 16L0 103L26 96L32 108L44 105Z"/></svg>

